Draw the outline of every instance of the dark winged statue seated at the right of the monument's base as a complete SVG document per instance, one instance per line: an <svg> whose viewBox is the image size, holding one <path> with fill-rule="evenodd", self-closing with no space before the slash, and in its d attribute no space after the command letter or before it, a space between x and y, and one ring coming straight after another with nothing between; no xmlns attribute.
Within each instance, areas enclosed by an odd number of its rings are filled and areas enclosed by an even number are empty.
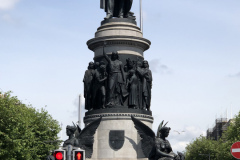
<svg viewBox="0 0 240 160"><path fill-rule="evenodd" d="M167 123L163 125L160 123L157 136L147 125L142 123L140 120L132 116L132 121L134 122L135 128L138 134L142 138L142 150L149 160L184 160L185 156L178 152L175 154L172 151L172 147L169 141L166 139L169 135L170 127L166 127Z"/></svg>

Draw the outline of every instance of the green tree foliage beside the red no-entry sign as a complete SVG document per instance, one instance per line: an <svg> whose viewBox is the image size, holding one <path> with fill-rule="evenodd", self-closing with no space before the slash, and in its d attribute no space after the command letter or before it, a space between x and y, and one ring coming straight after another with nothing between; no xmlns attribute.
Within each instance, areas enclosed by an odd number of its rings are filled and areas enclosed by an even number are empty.
<svg viewBox="0 0 240 160"><path fill-rule="evenodd" d="M186 160L235 160L231 155L231 146L240 140L240 112L232 120L220 140L214 141L200 136L186 147Z"/></svg>

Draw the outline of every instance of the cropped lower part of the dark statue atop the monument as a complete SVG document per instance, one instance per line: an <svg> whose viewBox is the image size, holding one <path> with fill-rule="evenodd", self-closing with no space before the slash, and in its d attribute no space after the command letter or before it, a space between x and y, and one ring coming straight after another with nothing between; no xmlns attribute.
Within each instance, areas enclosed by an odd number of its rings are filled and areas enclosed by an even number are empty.
<svg viewBox="0 0 240 160"><path fill-rule="evenodd" d="M104 9L107 14L105 19L128 18L133 14L130 12L132 2L133 0L100 0L100 8Z"/></svg>

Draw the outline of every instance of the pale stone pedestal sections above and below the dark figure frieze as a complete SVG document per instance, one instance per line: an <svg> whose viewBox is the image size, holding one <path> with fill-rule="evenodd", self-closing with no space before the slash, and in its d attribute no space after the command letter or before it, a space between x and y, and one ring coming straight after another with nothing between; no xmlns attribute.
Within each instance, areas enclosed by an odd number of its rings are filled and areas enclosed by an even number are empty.
<svg viewBox="0 0 240 160"><path fill-rule="evenodd" d="M94 52L94 61L108 62L103 56L105 52L110 55L118 52L119 60L123 66L126 60L131 59L135 64L144 60L143 53L149 49L151 42L143 38L143 34L136 22L127 18L113 18L104 20L95 33L95 38L87 42L88 48ZM127 72L126 72L127 74ZM108 93L107 93L108 94ZM138 118L152 128L153 117L145 109L131 109L129 106L93 106L84 117L85 125L102 117L102 121L94 135L92 160L140 160L147 159L141 149L141 138L134 127L131 116ZM136 108L141 108L140 106ZM111 146L110 132L123 131L123 145L120 149ZM117 136L115 137L117 138ZM121 138L121 137L120 137Z"/></svg>

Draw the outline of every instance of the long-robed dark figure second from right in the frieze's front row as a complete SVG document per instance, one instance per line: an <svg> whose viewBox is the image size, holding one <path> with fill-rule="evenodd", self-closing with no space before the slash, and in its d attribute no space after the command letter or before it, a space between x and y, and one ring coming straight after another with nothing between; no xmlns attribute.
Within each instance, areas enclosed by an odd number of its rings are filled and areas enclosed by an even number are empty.
<svg viewBox="0 0 240 160"><path fill-rule="evenodd" d="M128 97L128 105L130 108L137 109L138 106L138 78L135 74L135 70L129 71L129 80L128 80L128 88L129 88L129 97Z"/></svg>

